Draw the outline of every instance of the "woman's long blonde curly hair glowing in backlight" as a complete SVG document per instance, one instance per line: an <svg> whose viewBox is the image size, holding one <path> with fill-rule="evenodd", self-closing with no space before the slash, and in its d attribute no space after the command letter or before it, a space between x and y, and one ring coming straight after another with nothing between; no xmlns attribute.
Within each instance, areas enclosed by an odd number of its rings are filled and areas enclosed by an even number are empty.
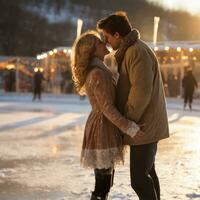
<svg viewBox="0 0 200 200"><path fill-rule="evenodd" d="M88 72L91 70L90 62L94 56L95 44L100 39L98 32L87 31L82 34L73 45L72 51L72 79L76 91L85 94L85 81Z"/></svg>

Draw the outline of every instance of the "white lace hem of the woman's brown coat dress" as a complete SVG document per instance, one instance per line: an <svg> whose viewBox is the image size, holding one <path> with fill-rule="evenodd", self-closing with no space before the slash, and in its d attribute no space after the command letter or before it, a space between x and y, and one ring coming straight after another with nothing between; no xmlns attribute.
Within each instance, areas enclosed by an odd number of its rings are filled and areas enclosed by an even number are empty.
<svg viewBox="0 0 200 200"><path fill-rule="evenodd" d="M85 168L107 169L124 164L124 148L83 149L81 165Z"/></svg>

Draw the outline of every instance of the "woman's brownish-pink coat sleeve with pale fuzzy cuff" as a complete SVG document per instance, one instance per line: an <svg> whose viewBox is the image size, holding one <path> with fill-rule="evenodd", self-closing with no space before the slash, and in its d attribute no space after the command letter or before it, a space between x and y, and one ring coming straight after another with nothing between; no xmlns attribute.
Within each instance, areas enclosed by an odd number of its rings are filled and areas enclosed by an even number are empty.
<svg viewBox="0 0 200 200"><path fill-rule="evenodd" d="M139 126L121 115L116 109L113 99L111 98L111 80L105 76L101 69L94 70L90 78L90 88L93 91L96 102L99 105L104 116L117 126L122 132L134 137L140 130Z"/></svg>

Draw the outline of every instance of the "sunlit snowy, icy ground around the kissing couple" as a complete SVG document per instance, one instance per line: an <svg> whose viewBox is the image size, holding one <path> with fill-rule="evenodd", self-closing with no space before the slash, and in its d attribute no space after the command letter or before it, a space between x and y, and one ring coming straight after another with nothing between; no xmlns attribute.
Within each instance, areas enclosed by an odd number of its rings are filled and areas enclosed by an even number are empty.
<svg viewBox="0 0 200 200"><path fill-rule="evenodd" d="M168 99L171 137L159 143L156 168L162 200L200 199L200 103L183 110ZM88 100L73 95L0 96L0 199L88 200L92 170L79 164ZM110 199L137 199L130 186L129 153L116 169Z"/></svg>

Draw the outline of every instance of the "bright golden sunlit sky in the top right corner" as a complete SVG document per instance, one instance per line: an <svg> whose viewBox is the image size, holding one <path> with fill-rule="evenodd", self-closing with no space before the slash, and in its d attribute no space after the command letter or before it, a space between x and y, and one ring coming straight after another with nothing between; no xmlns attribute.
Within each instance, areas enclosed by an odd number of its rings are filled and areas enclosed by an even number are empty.
<svg viewBox="0 0 200 200"><path fill-rule="evenodd" d="M200 15L199 0L148 0L148 1L161 5L166 9L184 10L192 15Z"/></svg>

